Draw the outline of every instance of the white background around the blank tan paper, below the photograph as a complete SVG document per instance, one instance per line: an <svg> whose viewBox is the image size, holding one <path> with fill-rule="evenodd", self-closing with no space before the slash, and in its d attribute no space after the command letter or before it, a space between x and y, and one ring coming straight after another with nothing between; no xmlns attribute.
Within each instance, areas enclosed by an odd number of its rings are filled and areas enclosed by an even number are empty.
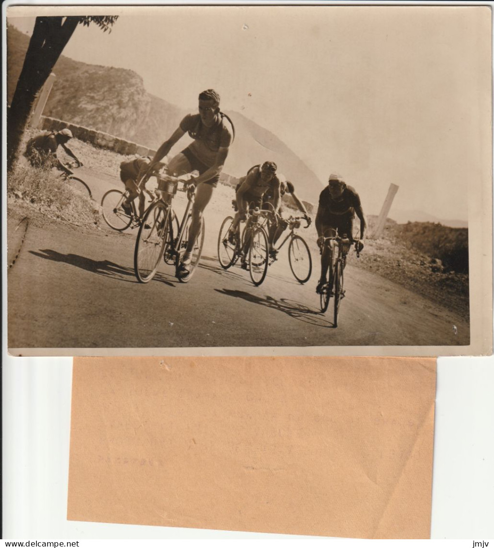
<svg viewBox="0 0 494 548"><path fill-rule="evenodd" d="M66 521L72 360L4 357L4 538L290 538ZM493 365L439 358L431 538L494 538Z"/></svg>

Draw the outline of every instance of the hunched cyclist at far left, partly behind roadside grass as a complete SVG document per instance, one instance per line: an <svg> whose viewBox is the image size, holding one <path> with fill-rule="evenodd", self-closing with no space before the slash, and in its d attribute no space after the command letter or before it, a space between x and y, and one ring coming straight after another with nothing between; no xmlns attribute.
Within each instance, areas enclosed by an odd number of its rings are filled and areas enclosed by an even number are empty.
<svg viewBox="0 0 494 548"><path fill-rule="evenodd" d="M81 167L82 162L67 146L67 142L70 139L72 139L70 129L62 129L59 132L40 133L27 141L24 156L26 156L33 167L56 167L65 173L71 174L71 170L56 156L56 149L60 145L69 156L75 159L77 167Z"/></svg>

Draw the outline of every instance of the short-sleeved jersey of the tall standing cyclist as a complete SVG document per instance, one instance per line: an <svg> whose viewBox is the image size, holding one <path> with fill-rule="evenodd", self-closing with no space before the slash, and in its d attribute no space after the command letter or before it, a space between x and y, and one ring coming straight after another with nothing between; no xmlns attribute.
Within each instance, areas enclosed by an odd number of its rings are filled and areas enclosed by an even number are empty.
<svg viewBox="0 0 494 548"><path fill-rule="evenodd" d="M231 124L219 113L213 125L208 128L202 123L200 114L188 114L180 122L180 129L188 132L194 141L187 147L200 162L214 165L220 148L228 148L232 141Z"/></svg>

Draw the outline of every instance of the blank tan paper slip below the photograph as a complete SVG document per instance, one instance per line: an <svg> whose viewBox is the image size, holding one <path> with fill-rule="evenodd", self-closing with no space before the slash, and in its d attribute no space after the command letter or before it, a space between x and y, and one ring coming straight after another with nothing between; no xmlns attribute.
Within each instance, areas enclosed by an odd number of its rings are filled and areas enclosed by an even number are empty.
<svg viewBox="0 0 494 548"><path fill-rule="evenodd" d="M429 538L436 362L75 358L68 518Z"/></svg>

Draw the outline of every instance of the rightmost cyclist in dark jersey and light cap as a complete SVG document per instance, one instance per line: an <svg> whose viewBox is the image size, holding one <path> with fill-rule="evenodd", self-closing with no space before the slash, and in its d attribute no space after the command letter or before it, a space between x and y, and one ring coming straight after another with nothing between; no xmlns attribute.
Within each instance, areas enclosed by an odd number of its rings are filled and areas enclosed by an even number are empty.
<svg viewBox="0 0 494 548"><path fill-rule="evenodd" d="M332 173L328 186L319 195L319 207L316 215L317 245L321 248L321 277L316 287L320 293L322 286L326 283L326 273L331 264L331 248L323 246L324 237L336 235L347 236L353 241L353 219L354 216L360 219L360 238L364 238L366 222L364 212L360 204L360 197L355 189L343 181L340 175ZM364 244L359 242L359 251ZM330 280L331 283L331 280Z"/></svg>

